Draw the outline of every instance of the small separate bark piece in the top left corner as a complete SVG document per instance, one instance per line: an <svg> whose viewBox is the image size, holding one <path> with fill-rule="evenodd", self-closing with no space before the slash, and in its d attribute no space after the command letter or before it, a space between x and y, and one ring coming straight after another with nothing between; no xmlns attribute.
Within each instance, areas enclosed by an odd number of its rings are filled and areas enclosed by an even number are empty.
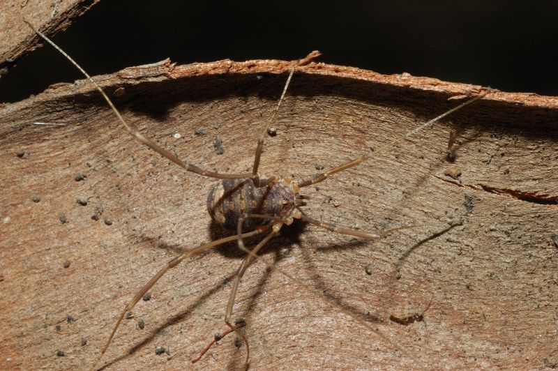
<svg viewBox="0 0 558 371"><path fill-rule="evenodd" d="M72 20L99 0L8 0L0 1L0 76L25 54L35 50L40 38L27 27L27 20L47 36L70 27Z"/></svg>

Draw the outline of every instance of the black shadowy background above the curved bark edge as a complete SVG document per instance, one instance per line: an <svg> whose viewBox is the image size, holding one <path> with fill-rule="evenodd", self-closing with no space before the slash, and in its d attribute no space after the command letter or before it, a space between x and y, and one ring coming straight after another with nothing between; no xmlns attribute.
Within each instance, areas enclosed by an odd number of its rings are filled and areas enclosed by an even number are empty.
<svg viewBox="0 0 558 371"><path fill-rule="evenodd" d="M91 75L161 61L298 59L556 96L558 2L101 1L54 40ZM0 102L82 78L52 47L0 79Z"/></svg>

